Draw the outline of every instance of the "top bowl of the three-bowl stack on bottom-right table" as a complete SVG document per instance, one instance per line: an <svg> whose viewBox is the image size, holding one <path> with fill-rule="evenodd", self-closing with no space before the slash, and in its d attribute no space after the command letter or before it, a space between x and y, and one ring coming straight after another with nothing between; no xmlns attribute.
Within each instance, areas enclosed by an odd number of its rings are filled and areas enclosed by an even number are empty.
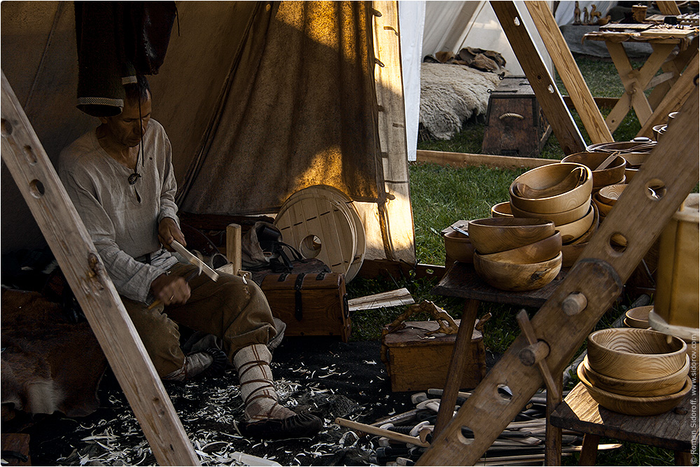
<svg viewBox="0 0 700 467"><path fill-rule="evenodd" d="M667 340L668 339L668 340ZM609 328L588 336L591 369L617 379L656 379L685 365L687 345L655 330Z"/></svg>

